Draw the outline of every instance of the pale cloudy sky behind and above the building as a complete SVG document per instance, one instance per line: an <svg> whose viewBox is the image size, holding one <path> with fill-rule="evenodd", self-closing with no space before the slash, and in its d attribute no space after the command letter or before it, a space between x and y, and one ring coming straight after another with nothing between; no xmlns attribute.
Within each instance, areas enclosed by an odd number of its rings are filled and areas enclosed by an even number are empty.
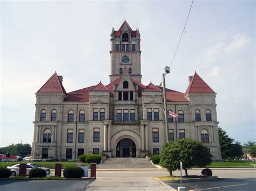
<svg viewBox="0 0 256 191"><path fill-rule="evenodd" d="M32 144L35 93L57 71L67 92L109 83L110 33L141 35L142 82L161 82L191 1L1 1L0 147ZM256 141L255 2L194 1L166 87L195 70L217 93L219 127Z"/></svg>

